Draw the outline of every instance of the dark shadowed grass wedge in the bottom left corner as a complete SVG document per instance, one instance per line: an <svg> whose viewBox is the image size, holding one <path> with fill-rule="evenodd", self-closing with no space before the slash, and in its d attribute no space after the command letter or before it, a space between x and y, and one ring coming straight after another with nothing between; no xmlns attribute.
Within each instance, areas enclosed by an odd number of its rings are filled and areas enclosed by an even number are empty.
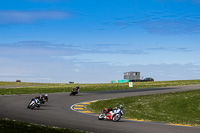
<svg viewBox="0 0 200 133"><path fill-rule="evenodd" d="M0 120L0 133L88 133L65 128L53 128L49 126L35 125L25 122Z"/></svg>

